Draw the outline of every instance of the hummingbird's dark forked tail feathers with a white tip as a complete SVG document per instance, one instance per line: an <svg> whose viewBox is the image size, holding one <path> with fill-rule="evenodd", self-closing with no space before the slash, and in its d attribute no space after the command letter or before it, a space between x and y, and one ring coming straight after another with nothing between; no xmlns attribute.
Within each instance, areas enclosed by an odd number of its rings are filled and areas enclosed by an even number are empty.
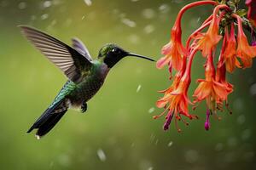
<svg viewBox="0 0 256 170"><path fill-rule="evenodd" d="M61 120L61 117L66 113L65 99L61 99L55 105L49 107L42 116L28 129L26 133L31 133L33 129L38 129L36 133L37 139L40 139L46 133L55 127L55 124Z"/></svg>

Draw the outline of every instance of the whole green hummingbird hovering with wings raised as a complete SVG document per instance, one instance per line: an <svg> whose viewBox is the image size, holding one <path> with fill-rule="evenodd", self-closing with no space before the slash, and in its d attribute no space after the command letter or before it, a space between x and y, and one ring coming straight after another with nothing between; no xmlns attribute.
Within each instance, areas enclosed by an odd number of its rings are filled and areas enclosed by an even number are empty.
<svg viewBox="0 0 256 170"><path fill-rule="evenodd" d="M49 133L67 110L76 109L82 113L87 111L87 102L102 88L108 71L120 59L133 56L154 61L146 56L127 52L114 43L104 45L99 50L97 59L92 59L88 49L78 38L72 39L70 47L43 31L30 26L19 27L24 36L68 79L54 101L28 129L27 133L37 129L37 139Z"/></svg>

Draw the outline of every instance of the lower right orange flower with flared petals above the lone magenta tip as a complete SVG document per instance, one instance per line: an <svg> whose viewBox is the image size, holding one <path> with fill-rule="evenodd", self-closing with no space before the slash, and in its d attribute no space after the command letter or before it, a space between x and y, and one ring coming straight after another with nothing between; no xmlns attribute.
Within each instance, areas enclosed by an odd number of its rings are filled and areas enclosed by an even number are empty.
<svg viewBox="0 0 256 170"><path fill-rule="evenodd" d="M226 86L221 82L215 81L215 68L213 65L212 54L207 57L205 71L206 79L198 80L199 86L195 89L194 97L196 102L207 99L208 109L215 111L219 103L227 99L228 92Z"/></svg>

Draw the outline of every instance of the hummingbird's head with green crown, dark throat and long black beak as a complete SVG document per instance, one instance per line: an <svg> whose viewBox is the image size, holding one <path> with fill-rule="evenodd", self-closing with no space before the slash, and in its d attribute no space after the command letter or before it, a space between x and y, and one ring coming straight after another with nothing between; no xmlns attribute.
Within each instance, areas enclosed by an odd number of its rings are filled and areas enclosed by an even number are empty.
<svg viewBox="0 0 256 170"><path fill-rule="evenodd" d="M123 59L126 56L133 56L142 59L148 59L150 61L155 61L154 59L150 59L143 55L129 53L113 43L108 43L100 49L98 59L102 59L102 61L106 65L108 65L108 68L112 68L113 65L117 64L120 59Z"/></svg>

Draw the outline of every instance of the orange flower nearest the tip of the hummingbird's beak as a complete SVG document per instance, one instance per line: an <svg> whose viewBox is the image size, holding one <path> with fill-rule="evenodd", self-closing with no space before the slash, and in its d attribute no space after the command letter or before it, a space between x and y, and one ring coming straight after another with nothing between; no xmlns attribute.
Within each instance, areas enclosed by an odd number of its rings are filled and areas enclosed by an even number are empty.
<svg viewBox="0 0 256 170"><path fill-rule="evenodd" d="M160 69L164 65L168 64L177 71L182 68L182 60L183 56L185 55L185 49L183 48L181 42L181 34L181 27L178 22L176 22L176 24L172 27L171 41L162 48L162 54L164 54L165 57L162 57L157 61L157 68Z"/></svg>

